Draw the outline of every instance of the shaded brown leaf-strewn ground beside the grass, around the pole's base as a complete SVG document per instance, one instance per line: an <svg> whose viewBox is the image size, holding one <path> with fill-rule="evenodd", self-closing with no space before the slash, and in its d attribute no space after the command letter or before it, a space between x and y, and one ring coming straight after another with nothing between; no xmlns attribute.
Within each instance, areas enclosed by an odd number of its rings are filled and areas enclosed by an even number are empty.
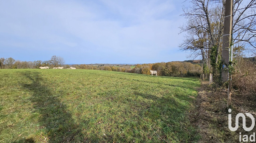
<svg viewBox="0 0 256 143"><path fill-rule="evenodd" d="M243 134L252 134L256 132L256 127L251 132L245 132L239 127L236 132L228 128L228 108L227 91L225 89L213 89L209 81L202 81L198 88L198 96L194 102L195 109L189 114L190 122L198 128L201 134L199 142L239 142L239 132ZM255 101L249 97L241 96L238 93L232 95L232 122L237 113L249 112L255 115ZM240 120L241 121L241 120ZM247 123L246 124L250 124ZM234 126L234 124L232 124ZM247 125L247 127L250 127Z"/></svg>

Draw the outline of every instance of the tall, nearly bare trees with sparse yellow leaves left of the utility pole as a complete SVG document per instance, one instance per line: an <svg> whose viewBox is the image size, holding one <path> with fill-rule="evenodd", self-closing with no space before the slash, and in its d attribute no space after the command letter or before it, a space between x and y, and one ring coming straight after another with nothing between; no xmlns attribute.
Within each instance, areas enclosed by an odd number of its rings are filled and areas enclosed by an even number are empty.
<svg viewBox="0 0 256 143"><path fill-rule="evenodd" d="M187 32L180 44L182 50L189 50L193 56L201 56L204 63L210 66L210 52L216 47L214 63L217 65L222 46L224 1L191 0L192 5L184 7L182 16L187 23L180 27L181 32Z"/></svg>

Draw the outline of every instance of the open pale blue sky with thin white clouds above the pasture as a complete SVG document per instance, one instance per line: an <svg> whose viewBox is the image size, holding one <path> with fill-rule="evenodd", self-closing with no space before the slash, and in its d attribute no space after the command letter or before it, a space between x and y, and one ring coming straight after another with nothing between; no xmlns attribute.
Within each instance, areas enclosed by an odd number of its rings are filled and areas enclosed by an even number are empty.
<svg viewBox="0 0 256 143"><path fill-rule="evenodd" d="M0 58L67 64L184 61L177 0L0 0Z"/></svg>

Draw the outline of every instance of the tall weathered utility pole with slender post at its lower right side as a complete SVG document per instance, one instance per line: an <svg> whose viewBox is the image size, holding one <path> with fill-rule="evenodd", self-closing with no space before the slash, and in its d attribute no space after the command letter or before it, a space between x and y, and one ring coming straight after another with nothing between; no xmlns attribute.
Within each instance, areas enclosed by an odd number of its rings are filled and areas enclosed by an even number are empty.
<svg viewBox="0 0 256 143"><path fill-rule="evenodd" d="M233 0L226 0L224 14L223 29L223 45L222 45L222 81L229 81L228 86L228 106L231 105L231 79L229 79L228 65L230 57L230 48L232 47L232 28L233 28ZM232 51L232 50L231 50Z"/></svg>

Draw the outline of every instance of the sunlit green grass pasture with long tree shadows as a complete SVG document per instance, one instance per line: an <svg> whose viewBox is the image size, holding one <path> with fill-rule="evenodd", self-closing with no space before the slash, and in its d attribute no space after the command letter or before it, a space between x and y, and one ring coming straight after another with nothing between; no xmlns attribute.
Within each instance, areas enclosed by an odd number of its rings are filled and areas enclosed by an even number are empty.
<svg viewBox="0 0 256 143"><path fill-rule="evenodd" d="M0 69L0 142L197 142L200 81L103 70Z"/></svg>

